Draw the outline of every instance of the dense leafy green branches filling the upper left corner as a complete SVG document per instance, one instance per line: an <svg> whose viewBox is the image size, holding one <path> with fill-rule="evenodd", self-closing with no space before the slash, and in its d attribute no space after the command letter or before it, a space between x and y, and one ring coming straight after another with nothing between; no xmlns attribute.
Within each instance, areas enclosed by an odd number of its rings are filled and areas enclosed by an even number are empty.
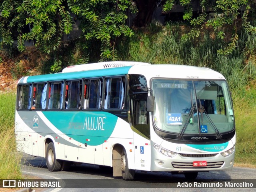
<svg viewBox="0 0 256 192"><path fill-rule="evenodd" d="M4 0L0 6L2 44L13 46L16 39L19 51L25 49L25 40L34 40L49 53L58 48L62 35L72 30L72 18L62 0ZM30 32L24 32L25 26Z"/></svg>

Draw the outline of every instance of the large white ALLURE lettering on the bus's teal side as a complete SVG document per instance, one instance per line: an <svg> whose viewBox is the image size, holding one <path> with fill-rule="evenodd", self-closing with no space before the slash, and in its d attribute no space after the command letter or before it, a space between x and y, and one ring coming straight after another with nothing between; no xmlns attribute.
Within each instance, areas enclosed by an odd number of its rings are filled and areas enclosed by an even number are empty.
<svg viewBox="0 0 256 192"><path fill-rule="evenodd" d="M85 117L84 129L87 130L102 130L104 131L104 120L107 117Z"/></svg>

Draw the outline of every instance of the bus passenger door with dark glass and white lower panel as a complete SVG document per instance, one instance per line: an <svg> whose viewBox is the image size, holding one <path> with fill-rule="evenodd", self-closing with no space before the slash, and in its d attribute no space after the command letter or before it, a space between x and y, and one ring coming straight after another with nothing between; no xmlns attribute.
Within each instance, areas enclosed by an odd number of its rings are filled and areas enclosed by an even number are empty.
<svg viewBox="0 0 256 192"><path fill-rule="evenodd" d="M148 93L134 94L131 98L133 105L132 125L134 131L134 156L135 169L150 170L150 125L149 115L146 108Z"/></svg>

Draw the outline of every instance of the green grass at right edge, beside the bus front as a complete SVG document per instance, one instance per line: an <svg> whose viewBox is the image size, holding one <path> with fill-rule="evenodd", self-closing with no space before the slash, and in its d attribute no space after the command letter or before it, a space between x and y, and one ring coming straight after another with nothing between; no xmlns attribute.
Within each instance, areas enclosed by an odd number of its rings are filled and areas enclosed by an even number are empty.
<svg viewBox="0 0 256 192"><path fill-rule="evenodd" d="M256 165L256 86L250 86L234 98L236 120L235 162Z"/></svg>

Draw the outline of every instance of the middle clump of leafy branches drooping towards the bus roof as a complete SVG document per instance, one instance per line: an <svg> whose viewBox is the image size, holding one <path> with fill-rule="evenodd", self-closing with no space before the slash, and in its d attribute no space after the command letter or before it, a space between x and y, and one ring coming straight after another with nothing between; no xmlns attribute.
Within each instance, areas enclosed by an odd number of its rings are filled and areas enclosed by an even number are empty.
<svg viewBox="0 0 256 192"><path fill-rule="evenodd" d="M86 39L84 47L100 41L102 60L115 59L115 39L124 36L132 36L132 29L126 26L128 18L126 12L134 11L130 0L68 0L68 6L72 13L80 20L80 29Z"/></svg>

